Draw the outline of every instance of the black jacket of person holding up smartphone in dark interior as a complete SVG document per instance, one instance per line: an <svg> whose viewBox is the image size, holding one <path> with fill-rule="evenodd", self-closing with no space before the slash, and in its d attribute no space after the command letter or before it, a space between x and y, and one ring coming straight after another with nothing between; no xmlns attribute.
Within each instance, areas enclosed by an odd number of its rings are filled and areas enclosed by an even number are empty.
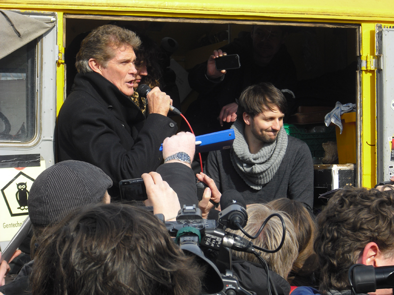
<svg viewBox="0 0 394 295"><path fill-rule="evenodd" d="M250 34L236 38L221 49L228 55L238 54L241 67L228 70L221 82L206 78L207 62L196 65L189 73L189 85L199 95L198 99L189 106L185 116L196 135L230 128L230 124L226 123L223 128L220 127L217 118L221 109L235 102L246 87L260 82L270 82L278 89L294 91L296 85L296 66L285 45L282 45L266 66L258 66L255 63ZM288 109L291 111L294 100L290 94L285 96L288 100ZM183 124L181 129L187 130L187 126Z"/></svg>

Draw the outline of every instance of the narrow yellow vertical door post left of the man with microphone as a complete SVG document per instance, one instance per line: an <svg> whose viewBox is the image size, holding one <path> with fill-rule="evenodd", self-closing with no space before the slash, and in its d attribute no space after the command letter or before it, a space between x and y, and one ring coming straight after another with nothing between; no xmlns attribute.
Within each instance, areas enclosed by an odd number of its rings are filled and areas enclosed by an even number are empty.
<svg viewBox="0 0 394 295"><path fill-rule="evenodd" d="M60 57L62 56L63 50L63 13L58 13L58 46ZM63 62L57 63L56 69L56 115L59 114L60 107L63 104L63 96L65 89L65 66Z"/></svg>

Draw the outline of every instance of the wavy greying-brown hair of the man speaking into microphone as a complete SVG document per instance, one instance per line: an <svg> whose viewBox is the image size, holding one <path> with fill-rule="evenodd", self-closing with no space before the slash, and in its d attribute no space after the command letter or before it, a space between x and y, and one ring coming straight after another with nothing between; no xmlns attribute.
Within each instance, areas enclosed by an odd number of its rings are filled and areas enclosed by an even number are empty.
<svg viewBox="0 0 394 295"><path fill-rule="evenodd" d="M141 41L131 30L115 25L104 25L94 29L83 39L81 49L76 56L75 67L78 73L93 72L89 59L96 59L103 67L115 57L115 50L122 46L130 46L138 50Z"/></svg>

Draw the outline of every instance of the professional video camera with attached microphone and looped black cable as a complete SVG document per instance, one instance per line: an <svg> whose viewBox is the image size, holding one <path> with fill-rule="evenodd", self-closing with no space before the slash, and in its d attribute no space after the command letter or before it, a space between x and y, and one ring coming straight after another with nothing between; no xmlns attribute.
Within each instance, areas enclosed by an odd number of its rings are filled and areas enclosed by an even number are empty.
<svg viewBox="0 0 394 295"><path fill-rule="evenodd" d="M269 218L270 217L264 221L261 230ZM282 217L279 216L279 218L281 219L284 226ZM231 204L219 213L217 221L202 219L201 210L194 205L193 207L184 206L179 211L176 221L165 222L165 226L169 234L174 237L176 243L185 252L185 254L194 255L201 265L205 267L208 266L202 287L202 290L205 294L254 294L248 292L239 285L237 278L232 275L231 270L226 269L226 271L224 271L225 274L221 274L217 266L207 258L214 256L212 255L212 252L218 253L219 250L230 248L235 251L253 253L258 258L260 258L259 260L265 265L263 267L268 272L268 266L266 266L265 262L263 262L263 259L260 257L260 255L255 252L255 248L262 251L265 251L266 249L254 246L251 241L243 238L242 236L226 232L226 229L239 229L244 232L243 227L246 225L247 221L248 214L246 209L238 204ZM260 235L261 230L256 236L250 237L256 238ZM285 231L286 230L284 227L283 232L285 233ZM245 233L246 232L244 232L244 234ZM283 244L283 242L281 244ZM280 247L274 251L279 250ZM269 280L268 275L267 279ZM273 290L275 291L275 288L273 288Z"/></svg>

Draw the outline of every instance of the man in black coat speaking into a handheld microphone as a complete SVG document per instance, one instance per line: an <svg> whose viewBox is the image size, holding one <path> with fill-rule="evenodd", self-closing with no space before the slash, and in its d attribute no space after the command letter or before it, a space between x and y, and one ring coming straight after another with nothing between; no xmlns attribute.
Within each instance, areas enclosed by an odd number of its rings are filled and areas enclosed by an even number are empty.
<svg viewBox="0 0 394 295"><path fill-rule="evenodd" d="M147 95L146 117L130 98L140 44L128 29L94 29L81 43L73 91L58 117L58 160L101 168L114 182L109 194L115 199L120 180L157 169L163 157L160 145L177 131L176 123L166 117L172 100L159 88Z"/></svg>

